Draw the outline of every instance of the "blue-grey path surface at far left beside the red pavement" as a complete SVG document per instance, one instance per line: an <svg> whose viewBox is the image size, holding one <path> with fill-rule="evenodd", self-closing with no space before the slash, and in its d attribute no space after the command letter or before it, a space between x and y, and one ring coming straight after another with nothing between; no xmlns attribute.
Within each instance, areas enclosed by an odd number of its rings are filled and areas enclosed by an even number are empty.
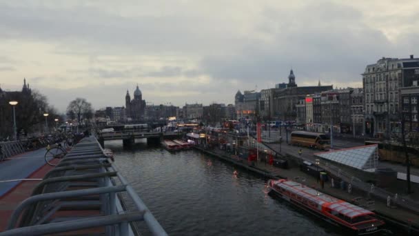
<svg viewBox="0 0 419 236"><path fill-rule="evenodd" d="M0 197L21 181L1 182L10 179L25 179L45 165L45 148L22 153L0 162Z"/></svg>

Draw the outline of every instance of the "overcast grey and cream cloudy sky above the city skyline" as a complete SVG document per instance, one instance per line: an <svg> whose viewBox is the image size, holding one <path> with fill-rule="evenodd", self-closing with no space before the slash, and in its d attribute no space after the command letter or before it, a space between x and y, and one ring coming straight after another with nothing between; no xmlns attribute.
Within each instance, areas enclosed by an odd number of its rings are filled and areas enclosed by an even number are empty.
<svg viewBox="0 0 419 236"><path fill-rule="evenodd" d="M0 84L23 77L64 111L234 102L293 68L298 86L362 86L380 57L418 55L419 1L1 1ZM415 47L416 46L416 47Z"/></svg>

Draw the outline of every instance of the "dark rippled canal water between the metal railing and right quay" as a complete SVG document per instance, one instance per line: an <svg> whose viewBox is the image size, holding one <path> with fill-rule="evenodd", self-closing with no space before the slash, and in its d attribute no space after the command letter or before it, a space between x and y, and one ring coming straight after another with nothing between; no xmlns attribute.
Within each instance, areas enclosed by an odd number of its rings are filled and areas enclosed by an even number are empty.
<svg viewBox="0 0 419 236"><path fill-rule="evenodd" d="M169 153L141 141L130 149L121 141L105 147L169 235L341 235L268 195L265 180L247 170L196 150Z"/></svg>

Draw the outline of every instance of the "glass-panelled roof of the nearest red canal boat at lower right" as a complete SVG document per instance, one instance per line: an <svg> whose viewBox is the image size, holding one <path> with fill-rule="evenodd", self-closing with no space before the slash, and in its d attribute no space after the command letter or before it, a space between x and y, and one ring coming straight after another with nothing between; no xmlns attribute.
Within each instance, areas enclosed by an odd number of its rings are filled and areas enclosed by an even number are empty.
<svg viewBox="0 0 419 236"><path fill-rule="evenodd" d="M349 218L374 214L369 210L365 210L364 208L360 208L359 206L355 206L354 204L350 204L349 202L343 201L336 197L331 197L330 195L326 195L319 192L318 190L309 188L295 181L280 181L276 183L276 186L284 188L285 190L310 201L314 201L316 204L319 204L325 208L329 208L330 210L334 211L334 213L340 213Z"/></svg>

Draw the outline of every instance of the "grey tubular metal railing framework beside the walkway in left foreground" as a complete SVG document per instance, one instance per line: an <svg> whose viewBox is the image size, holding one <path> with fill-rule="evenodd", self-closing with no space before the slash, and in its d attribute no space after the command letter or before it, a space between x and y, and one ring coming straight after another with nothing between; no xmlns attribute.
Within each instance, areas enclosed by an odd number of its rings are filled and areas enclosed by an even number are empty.
<svg viewBox="0 0 419 236"><path fill-rule="evenodd" d="M123 208L117 193L127 193L134 212ZM139 221L145 222L153 235L167 235L110 157L103 154L99 142L88 137L45 175L32 196L14 210L7 230L0 235L44 235L98 230L99 226L105 235L135 235L139 232L130 222Z"/></svg>

